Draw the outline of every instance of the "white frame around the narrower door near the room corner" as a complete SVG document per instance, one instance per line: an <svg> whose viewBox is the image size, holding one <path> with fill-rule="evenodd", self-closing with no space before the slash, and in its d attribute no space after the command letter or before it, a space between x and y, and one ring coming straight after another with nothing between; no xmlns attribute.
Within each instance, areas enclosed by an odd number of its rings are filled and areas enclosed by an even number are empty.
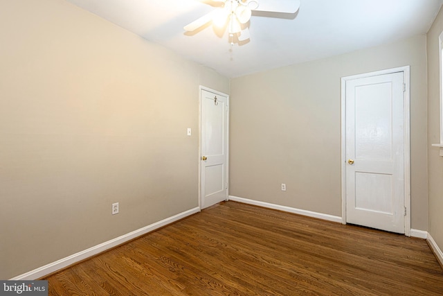
<svg viewBox="0 0 443 296"><path fill-rule="evenodd" d="M203 85L199 85L199 208L201 211L201 140L203 137L201 136L201 91L204 90L206 92L212 92L213 94L219 96L226 96L226 107L228 108L228 112L226 113L226 182L228 183L228 188L226 188L226 200L228 200L229 196L229 95L224 94L223 92L218 92L215 89L211 89L209 87L205 87Z"/></svg>

